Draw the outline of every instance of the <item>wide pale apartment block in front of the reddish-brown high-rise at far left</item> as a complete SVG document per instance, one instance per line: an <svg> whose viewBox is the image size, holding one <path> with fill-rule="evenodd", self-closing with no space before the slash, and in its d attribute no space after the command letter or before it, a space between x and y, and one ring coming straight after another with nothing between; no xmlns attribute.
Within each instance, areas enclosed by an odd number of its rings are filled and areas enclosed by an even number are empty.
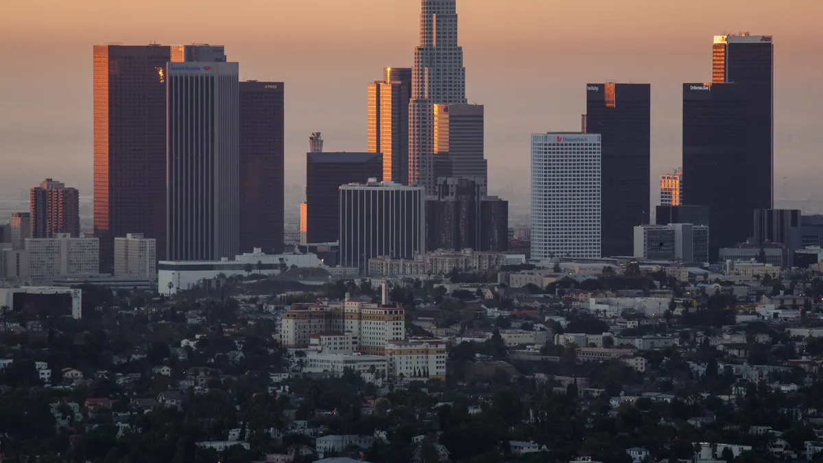
<svg viewBox="0 0 823 463"><path fill-rule="evenodd" d="M52 238L26 239L32 283L49 283L58 276L99 274L100 240L72 238L57 233Z"/></svg>

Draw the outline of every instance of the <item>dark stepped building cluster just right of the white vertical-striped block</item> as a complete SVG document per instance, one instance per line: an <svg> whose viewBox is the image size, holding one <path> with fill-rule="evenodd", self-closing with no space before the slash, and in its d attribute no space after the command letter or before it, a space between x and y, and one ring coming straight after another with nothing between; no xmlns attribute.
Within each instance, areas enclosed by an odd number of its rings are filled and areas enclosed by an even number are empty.
<svg viewBox="0 0 823 463"><path fill-rule="evenodd" d="M425 216L427 250L509 247L509 202L488 196L482 178L439 178Z"/></svg>

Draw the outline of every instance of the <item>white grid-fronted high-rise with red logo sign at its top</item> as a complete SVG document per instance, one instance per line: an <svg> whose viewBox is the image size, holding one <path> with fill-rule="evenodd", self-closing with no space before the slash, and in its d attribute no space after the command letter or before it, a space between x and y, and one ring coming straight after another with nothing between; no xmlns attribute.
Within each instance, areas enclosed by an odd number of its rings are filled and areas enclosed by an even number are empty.
<svg viewBox="0 0 823 463"><path fill-rule="evenodd" d="M600 257L600 135L532 134L532 259Z"/></svg>

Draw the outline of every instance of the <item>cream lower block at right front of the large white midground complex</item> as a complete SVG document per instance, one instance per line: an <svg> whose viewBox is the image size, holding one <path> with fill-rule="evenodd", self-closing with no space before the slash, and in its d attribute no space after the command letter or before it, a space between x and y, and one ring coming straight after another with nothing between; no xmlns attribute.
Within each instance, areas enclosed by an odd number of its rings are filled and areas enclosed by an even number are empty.
<svg viewBox="0 0 823 463"><path fill-rule="evenodd" d="M415 338L386 344L389 374L403 381L446 378L446 343L440 339Z"/></svg>

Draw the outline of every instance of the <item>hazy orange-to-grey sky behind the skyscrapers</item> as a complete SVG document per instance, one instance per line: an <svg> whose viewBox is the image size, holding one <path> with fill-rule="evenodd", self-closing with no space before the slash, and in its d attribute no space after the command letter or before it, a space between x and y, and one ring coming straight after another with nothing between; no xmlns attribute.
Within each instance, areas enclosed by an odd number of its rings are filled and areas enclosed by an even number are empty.
<svg viewBox="0 0 823 463"><path fill-rule="evenodd" d="M366 83L411 67L419 13L419 0L2 0L0 193L50 176L91 194L91 49L105 42L225 44L241 78L286 82L286 181L302 184L313 130L327 151L365 151ZM823 190L821 0L458 0L458 14L493 191L528 193L530 133L579 129L586 82L650 82L653 177L680 165L680 84L709 81L712 36L740 30L774 35L777 197Z"/></svg>

